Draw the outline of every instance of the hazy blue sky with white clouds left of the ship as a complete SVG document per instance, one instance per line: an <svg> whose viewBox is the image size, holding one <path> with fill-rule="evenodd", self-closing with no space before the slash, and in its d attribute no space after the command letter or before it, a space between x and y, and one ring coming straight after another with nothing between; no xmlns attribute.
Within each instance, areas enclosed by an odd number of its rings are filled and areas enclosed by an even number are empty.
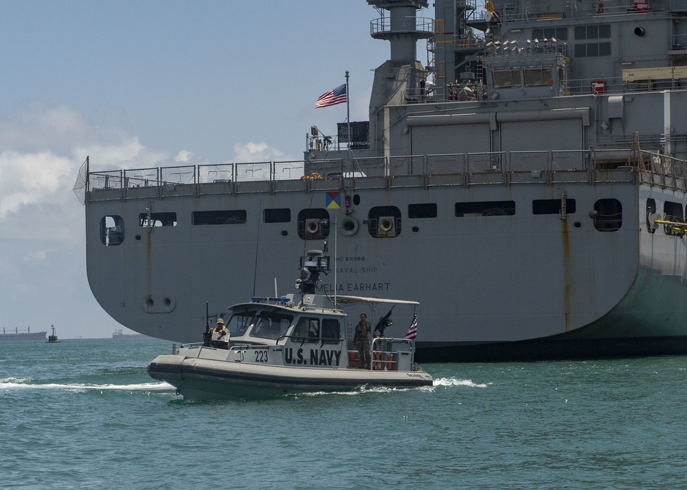
<svg viewBox="0 0 687 490"><path fill-rule="evenodd" d="M347 70L350 118L368 119L389 58L377 17L365 0L0 0L0 328L121 327L86 277L87 156L91 171L301 160L311 126L346 119L315 100Z"/></svg>

